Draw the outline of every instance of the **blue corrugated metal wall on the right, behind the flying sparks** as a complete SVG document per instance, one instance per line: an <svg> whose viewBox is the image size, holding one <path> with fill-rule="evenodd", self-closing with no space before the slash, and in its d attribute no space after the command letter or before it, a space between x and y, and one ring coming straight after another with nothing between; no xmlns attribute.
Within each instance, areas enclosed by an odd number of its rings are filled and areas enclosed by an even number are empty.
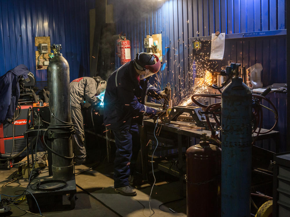
<svg viewBox="0 0 290 217"><path fill-rule="evenodd" d="M193 84L193 75L189 73L190 37L208 36L217 30L232 34L286 28L285 0L110 0L108 3L114 5L117 33L126 33L131 41L132 58L137 52L146 51L143 47L146 35L162 33L162 79L157 86L163 88L170 82L176 98ZM219 67L215 70L219 71L229 60L246 68L261 63L264 86L287 82L286 36L227 40L224 60L217 61ZM116 68L120 66L116 56ZM285 103L279 106L279 102L276 105L280 113L286 114ZM280 120L276 130L284 139L287 123L283 115ZM265 118L264 126L267 125L270 126Z"/></svg>

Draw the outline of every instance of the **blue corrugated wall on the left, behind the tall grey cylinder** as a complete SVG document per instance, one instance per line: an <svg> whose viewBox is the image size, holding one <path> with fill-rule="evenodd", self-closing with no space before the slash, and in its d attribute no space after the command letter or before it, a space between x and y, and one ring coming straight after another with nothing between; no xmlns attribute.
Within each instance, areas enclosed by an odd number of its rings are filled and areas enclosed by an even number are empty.
<svg viewBox="0 0 290 217"><path fill-rule="evenodd" d="M89 73L89 10L95 0L1 0L0 75L24 64L37 81L46 80L46 70L36 70L34 37L50 36L61 44L68 60L70 79Z"/></svg>

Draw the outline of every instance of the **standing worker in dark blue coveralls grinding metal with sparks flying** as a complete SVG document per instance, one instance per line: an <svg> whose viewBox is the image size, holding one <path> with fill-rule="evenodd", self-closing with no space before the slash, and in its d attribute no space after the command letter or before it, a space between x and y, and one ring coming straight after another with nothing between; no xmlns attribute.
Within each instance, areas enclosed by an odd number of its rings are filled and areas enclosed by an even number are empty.
<svg viewBox="0 0 290 217"><path fill-rule="evenodd" d="M145 96L165 98L161 91L148 83L149 76L160 69L160 60L154 54L138 53L134 60L114 71L107 82L104 97L104 124L115 135L117 147L114 163L115 191L126 196L137 193L129 185L140 150L138 124L143 115L154 117L156 109L145 106ZM131 184L131 183L130 183Z"/></svg>

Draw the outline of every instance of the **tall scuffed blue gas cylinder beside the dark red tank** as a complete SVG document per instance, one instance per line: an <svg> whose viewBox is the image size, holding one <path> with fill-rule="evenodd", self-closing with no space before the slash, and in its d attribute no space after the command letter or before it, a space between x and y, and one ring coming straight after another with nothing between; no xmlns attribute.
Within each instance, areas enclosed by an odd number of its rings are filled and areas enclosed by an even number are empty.
<svg viewBox="0 0 290 217"><path fill-rule="evenodd" d="M252 93L239 77L222 91L221 216L250 216Z"/></svg>

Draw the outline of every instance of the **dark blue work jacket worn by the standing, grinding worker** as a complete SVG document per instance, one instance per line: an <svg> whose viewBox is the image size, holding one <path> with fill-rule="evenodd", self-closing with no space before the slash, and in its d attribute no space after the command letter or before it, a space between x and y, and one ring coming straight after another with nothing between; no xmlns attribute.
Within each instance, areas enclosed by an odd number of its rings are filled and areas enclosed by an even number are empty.
<svg viewBox="0 0 290 217"><path fill-rule="evenodd" d="M154 116L156 110L145 106L145 96L160 98L161 90L147 80L138 82L134 60L114 71L104 96L104 124L113 130L129 130L131 124L142 124L143 115Z"/></svg>

